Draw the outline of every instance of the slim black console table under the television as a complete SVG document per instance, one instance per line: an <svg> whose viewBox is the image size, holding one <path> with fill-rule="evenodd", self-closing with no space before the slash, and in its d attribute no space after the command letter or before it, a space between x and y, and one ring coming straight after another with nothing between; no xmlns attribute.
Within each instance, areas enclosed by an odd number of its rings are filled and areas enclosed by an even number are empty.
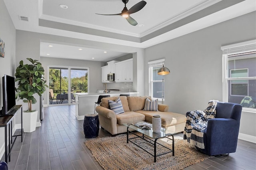
<svg viewBox="0 0 256 170"><path fill-rule="evenodd" d="M10 154L11 154L11 150L12 150L14 142L16 141L17 136L21 136L21 142L23 140L23 137L22 137L22 105L15 105L14 109L16 109L16 112L13 115L7 115L7 116L0 117L0 127L4 127L4 146L5 146L4 147L5 148L4 156L5 156L6 163L8 163L8 158L9 158L9 162L11 161ZM20 109L21 109L21 114L20 114L21 115L21 134L12 135L12 120L18 114L18 111ZM9 129L9 131L7 130L7 127ZM8 141L7 141L7 137L8 137L7 135L9 135ZM15 137L13 141L12 141L12 137Z"/></svg>

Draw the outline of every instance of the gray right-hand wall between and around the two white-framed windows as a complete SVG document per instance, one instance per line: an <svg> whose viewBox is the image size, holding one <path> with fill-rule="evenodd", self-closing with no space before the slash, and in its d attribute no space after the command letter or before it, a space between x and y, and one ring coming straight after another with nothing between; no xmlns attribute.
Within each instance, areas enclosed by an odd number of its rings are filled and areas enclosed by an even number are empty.
<svg viewBox="0 0 256 170"><path fill-rule="evenodd" d="M210 99L222 101L223 45L256 39L256 12L145 49L148 61L165 58L165 104L169 111L185 114L206 109ZM148 85L145 86L148 94ZM242 113L240 133L256 136L256 114Z"/></svg>

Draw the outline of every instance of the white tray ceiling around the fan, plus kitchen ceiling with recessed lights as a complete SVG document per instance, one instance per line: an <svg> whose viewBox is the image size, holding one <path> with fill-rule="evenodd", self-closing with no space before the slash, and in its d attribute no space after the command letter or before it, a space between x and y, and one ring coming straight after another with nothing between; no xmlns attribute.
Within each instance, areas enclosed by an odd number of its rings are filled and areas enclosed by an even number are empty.
<svg viewBox="0 0 256 170"><path fill-rule="evenodd" d="M141 0L129 0L129 9ZM256 0L145 0L142 10L131 14L137 26L118 14L122 0L4 0L17 30L66 36L146 48L256 10ZM59 7L68 6L67 9ZM29 22L18 16L29 18ZM143 26L142 26L143 25ZM53 47L48 47L53 45ZM78 50L82 48L83 50ZM122 51L41 42L40 55L109 61ZM50 54L50 55L46 55ZM92 59L94 57L94 59Z"/></svg>

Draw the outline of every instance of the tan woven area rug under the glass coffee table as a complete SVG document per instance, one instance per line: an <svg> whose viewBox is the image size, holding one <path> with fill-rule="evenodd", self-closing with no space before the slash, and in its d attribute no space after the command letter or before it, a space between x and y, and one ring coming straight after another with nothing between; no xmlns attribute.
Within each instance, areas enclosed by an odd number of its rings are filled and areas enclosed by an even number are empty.
<svg viewBox="0 0 256 170"><path fill-rule="evenodd" d="M129 135L130 137L130 135ZM172 147L171 140L158 140L167 147ZM154 152L154 148L138 139L139 146ZM126 143L126 134L116 137L105 137L85 142L100 166L105 170L176 170L196 164L210 156L198 152L195 148L189 148L182 140L175 140L174 156L172 153L156 157L151 156L132 142ZM148 146L149 145L149 146ZM157 146L157 152L162 152L164 147ZM150 152L151 153L151 152Z"/></svg>

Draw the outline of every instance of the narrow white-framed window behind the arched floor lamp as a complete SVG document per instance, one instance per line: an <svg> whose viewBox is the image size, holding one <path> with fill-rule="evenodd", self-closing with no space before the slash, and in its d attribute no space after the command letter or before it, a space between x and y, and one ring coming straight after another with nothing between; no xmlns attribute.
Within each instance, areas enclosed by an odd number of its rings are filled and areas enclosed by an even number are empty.
<svg viewBox="0 0 256 170"><path fill-rule="evenodd" d="M158 75L157 71L164 65L164 59L159 59L156 61L149 61L149 95L153 99L158 99L162 101L162 85L164 82L164 76Z"/></svg>

